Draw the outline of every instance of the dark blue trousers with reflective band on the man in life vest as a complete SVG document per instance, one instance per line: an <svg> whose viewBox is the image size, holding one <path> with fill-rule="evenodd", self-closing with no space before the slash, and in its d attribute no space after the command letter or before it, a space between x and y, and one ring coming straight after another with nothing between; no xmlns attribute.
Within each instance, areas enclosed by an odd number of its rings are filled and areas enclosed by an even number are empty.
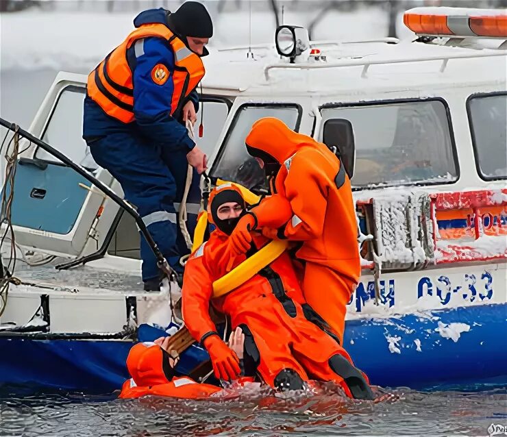
<svg viewBox="0 0 507 437"><path fill-rule="evenodd" d="M189 252L177 225L188 162L186 151L168 150L153 145L136 134L108 134L88 142L90 153L99 166L106 168L120 183L125 199L136 206L153 240L176 271L180 258ZM201 201L199 175L194 170L186 201L187 229L193 237ZM140 255L143 281L160 275L153 251L141 234Z"/></svg>

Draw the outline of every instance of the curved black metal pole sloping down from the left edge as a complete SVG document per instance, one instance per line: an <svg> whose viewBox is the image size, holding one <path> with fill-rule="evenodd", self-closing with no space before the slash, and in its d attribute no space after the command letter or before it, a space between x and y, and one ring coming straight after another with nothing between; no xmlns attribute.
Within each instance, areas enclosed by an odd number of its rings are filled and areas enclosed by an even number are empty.
<svg viewBox="0 0 507 437"><path fill-rule="evenodd" d="M23 136L27 140L32 141L34 144L38 145L38 147L47 151L47 153L50 153L55 158L58 158L60 161L64 162L64 164L73 168L74 171L79 173L79 175L82 175L82 177L88 180L88 182L91 182L93 185L99 188L99 190L101 190L104 194L108 195L108 197L110 197L115 203L117 203L120 206L120 208L123 208L123 210L125 210L132 217L134 217L134 220L136 221L140 232L143 234L143 236L145 236L149 244L149 247L151 247L151 250L153 251L153 253L155 253L158 268L161 269L164 273L166 273L166 275L168 276L171 275L171 267L169 266L169 264L167 264L164 255L162 255L160 249L158 249L157 243L155 242L155 240L153 240L153 237L149 233L145 223L143 222L143 219L140 217L138 212L132 207L132 205L129 205L129 203L127 203L125 200L119 197L119 195L117 195L116 192L111 190L111 188L109 188L107 185L103 184L103 182L99 181L99 179L97 179L89 171L85 170L82 166L76 164L75 162L67 158L66 155L64 155L62 152L51 147L49 144L47 144L47 142L39 140L29 132L25 131L24 129L21 129L21 127L18 127L14 123L9 123L3 118L0 118L0 125L6 127L12 132L18 132L21 136Z"/></svg>

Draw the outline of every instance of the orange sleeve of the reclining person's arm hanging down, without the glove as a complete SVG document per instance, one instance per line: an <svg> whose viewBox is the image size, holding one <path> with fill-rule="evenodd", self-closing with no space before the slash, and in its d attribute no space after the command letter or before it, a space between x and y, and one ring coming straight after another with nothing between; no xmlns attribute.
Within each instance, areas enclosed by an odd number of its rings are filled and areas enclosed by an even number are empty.
<svg viewBox="0 0 507 437"><path fill-rule="evenodd" d="M212 277L206 266L204 243L185 265L182 289L183 320L190 334L200 342L204 334L217 331L210 317Z"/></svg>

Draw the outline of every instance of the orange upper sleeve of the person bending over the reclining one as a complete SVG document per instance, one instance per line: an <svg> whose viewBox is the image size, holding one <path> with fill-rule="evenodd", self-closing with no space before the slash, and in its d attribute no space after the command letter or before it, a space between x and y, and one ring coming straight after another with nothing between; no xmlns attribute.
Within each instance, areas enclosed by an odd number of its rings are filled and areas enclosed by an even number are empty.
<svg viewBox="0 0 507 437"><path fill-rule="evenodd" d="M289 240L312 240L322 235L327 209L327 177L317 160L296 155L284 185L293 212L285 228Z"/></svg>

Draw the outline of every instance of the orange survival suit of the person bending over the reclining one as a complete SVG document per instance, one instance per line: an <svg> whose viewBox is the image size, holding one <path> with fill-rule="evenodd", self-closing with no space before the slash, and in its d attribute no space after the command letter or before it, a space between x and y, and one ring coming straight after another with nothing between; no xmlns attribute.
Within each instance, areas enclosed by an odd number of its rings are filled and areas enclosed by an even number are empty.
<svg viewBox="0 0 507 437"><path fill-rule="evenodd" d="M273 195L260 205L271 202L277 208L253 208L232 235L232 251L243 250L241 241L243 247L249 241L248 229L265 226L266 214L271 221L273 215L285 219L286 225L274 235L303 242L296 256L305 262L304 298L343 342L346 305L361 271L358 225L345 167L325 145L276 118L254 123L246 145L250 155L262 159L267 173L275 175ZM289 216L282 217L286 210L279 207L281 199L290 202Z"/></svg>

